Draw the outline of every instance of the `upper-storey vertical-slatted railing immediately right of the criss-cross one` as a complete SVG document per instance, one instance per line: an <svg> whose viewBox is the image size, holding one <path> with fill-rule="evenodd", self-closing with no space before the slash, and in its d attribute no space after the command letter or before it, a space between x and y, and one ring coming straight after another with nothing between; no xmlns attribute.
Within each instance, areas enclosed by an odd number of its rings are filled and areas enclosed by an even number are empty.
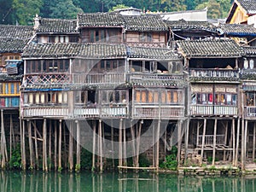
<svg viewBox="0 0 256 192"><path fill-rule="evenodd" d="M75 84L123 84L125 73L74 73Z"/></svg>

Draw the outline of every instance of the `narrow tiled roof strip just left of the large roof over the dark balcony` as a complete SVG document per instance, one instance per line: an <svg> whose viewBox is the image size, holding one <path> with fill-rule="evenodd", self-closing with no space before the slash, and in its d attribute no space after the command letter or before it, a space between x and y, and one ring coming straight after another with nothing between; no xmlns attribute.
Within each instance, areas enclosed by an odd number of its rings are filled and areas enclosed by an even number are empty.
<svg viewBox="0 0 256 192"><path fill-rule="evenodd" d="M178 60L178 56L171 49L127 47L127 54L130 58Z"/></svg>

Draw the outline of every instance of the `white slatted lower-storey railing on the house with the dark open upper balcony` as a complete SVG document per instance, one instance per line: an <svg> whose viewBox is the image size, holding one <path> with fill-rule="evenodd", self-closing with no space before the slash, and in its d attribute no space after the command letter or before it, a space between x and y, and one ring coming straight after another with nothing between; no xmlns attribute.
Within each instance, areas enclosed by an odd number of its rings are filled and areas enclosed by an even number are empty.
<svg viewBox="0 0 256 192"><path fill-rule="evenodd" d="M223 105L191 105L191 115L238 115L236 106L223 106Z"/></svg>

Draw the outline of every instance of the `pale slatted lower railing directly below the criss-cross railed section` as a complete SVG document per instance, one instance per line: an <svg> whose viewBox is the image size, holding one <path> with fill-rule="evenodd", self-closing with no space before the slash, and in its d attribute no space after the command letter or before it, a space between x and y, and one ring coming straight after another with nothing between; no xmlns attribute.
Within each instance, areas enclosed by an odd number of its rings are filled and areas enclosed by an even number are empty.
<svg viewBox="0 0 256 192"><path fill-rule="evenodd" d="M66 118L68 116L68 108L61 107L33 107L33 108L22 108L21 114L23 117L63 117Z"/></svg>

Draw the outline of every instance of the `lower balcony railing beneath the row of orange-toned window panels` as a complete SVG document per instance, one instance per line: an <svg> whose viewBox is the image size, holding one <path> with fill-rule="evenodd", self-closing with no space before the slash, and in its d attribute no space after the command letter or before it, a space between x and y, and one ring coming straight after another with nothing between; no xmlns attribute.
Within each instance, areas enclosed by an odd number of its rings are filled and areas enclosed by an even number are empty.
<svg viewBox="0 0 256 192"><path fill-rule="evenodd" d="M135 106L132 113L134 119L176 119L183 117L183 106Z"/></svg>

